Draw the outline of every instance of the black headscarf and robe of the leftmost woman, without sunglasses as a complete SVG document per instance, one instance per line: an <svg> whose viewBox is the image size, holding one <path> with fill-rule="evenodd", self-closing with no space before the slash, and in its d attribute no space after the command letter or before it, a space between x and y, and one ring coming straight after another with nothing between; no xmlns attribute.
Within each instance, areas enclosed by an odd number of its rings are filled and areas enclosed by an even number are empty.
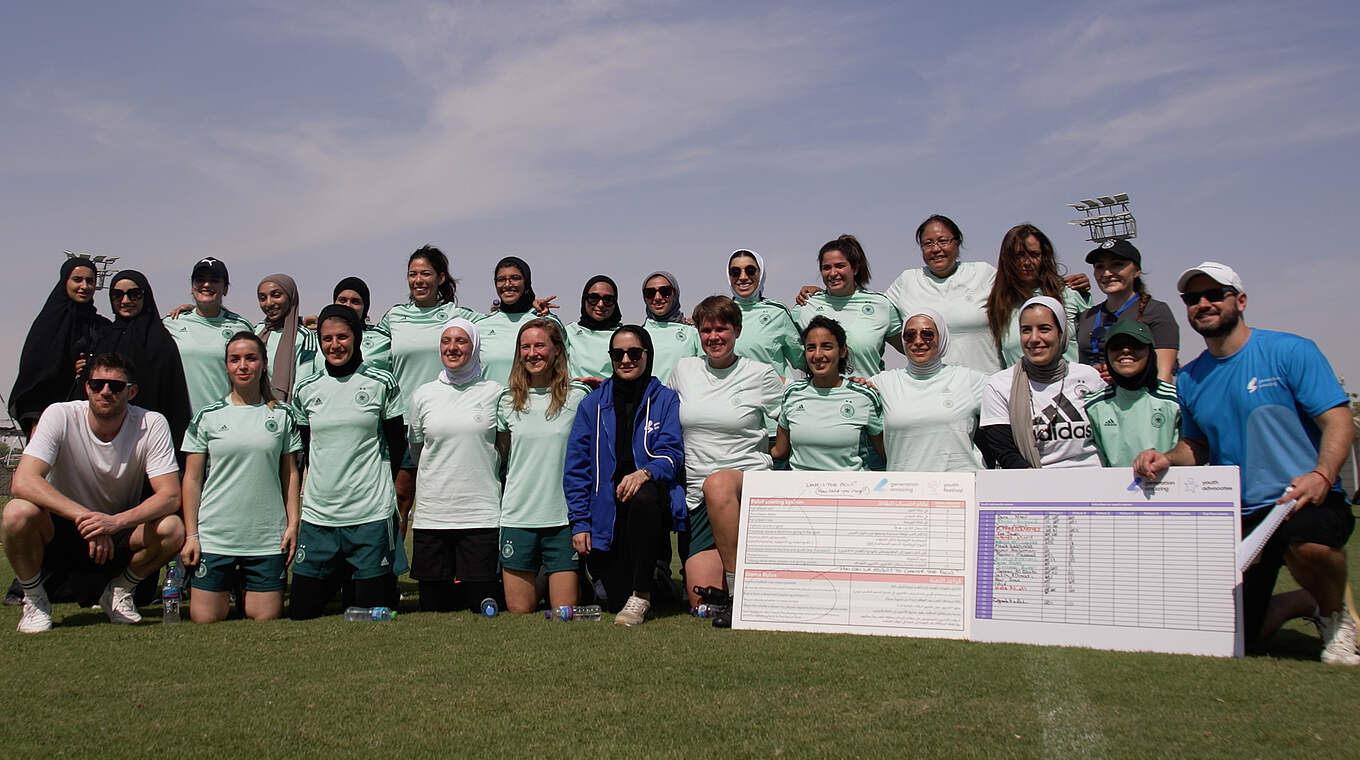
<svg viewBox="0 0 1360 760"><path fill-rule="evenodd" d="M94 303L76 303L67 296L67 279L78 266L98 273L88 258L68 258L61 264L61 277L48 295L19 355L19 374L10 392L10 416L31 428L50 404L79 397L76 360L94 351L101 328L109 324Z"/></svg>

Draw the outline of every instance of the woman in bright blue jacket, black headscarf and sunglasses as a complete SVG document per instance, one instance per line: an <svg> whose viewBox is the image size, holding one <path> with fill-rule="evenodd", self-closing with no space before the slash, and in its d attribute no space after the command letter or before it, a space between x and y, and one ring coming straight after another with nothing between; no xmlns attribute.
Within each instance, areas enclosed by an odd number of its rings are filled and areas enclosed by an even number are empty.
<svg viewBox="0 0 1360 760"><path fill-rule="evenodd" d="M562 476L571 542L619 625L646 620L661 544L687 525L680 398L653 377L651 349L643 328L615 330L613 373L577 408Z"/></svg>

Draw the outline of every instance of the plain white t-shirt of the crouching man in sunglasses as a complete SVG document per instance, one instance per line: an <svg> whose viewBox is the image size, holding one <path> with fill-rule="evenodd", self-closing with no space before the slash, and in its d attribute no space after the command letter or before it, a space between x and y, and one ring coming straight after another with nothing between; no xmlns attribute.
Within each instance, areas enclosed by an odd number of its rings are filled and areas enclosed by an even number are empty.
<svg viewBox="0 0 1360 760"><path fill-rule="evenodd" d="M105 443L90 430L88 401L53 404L23 453L52 465L48 483L64 496L105 514L140 504L143 477L180 472L166 419L131 405L118 435Z"/></svg>

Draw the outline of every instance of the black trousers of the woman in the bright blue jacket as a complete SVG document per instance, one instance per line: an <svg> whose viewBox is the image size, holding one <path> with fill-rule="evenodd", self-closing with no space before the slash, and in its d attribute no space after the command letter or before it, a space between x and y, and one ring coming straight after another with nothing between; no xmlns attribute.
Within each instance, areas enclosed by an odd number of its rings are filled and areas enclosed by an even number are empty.
<svg viewBox="0 0 1360 760"><path fill-rule="evenodd" d="M611 612L623 609L632 591L651 591L661 540L670 519L670 499L666 489L649 480L616 508L612 547L607 552L590 549L586 557L590 574L604 581Z"/></svg>

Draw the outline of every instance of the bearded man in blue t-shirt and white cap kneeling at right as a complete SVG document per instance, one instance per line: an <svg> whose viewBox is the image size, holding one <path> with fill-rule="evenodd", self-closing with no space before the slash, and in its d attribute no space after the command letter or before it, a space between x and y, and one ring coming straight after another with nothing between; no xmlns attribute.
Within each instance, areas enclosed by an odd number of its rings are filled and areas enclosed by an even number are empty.
<svg viewBox="0 0 1360 760"><path fill-rule="evenodd" d="M1138 454L1134 472L1156 480L1171 465L1236 465L1243 536L1277 502L1296 499L1243 574L1247 647L1259 650L1291 617L1315 615L1322 661L1360 665L1344 602L1355 517L1337 479L1355 438L1346 393L1311 340L1247 326L1247 295L1229 266L1206 261L1182 272L1176 287L1208 351L1176 378L1180 442ZM1272 597L1281 566L1303 591Z"/></svg>

